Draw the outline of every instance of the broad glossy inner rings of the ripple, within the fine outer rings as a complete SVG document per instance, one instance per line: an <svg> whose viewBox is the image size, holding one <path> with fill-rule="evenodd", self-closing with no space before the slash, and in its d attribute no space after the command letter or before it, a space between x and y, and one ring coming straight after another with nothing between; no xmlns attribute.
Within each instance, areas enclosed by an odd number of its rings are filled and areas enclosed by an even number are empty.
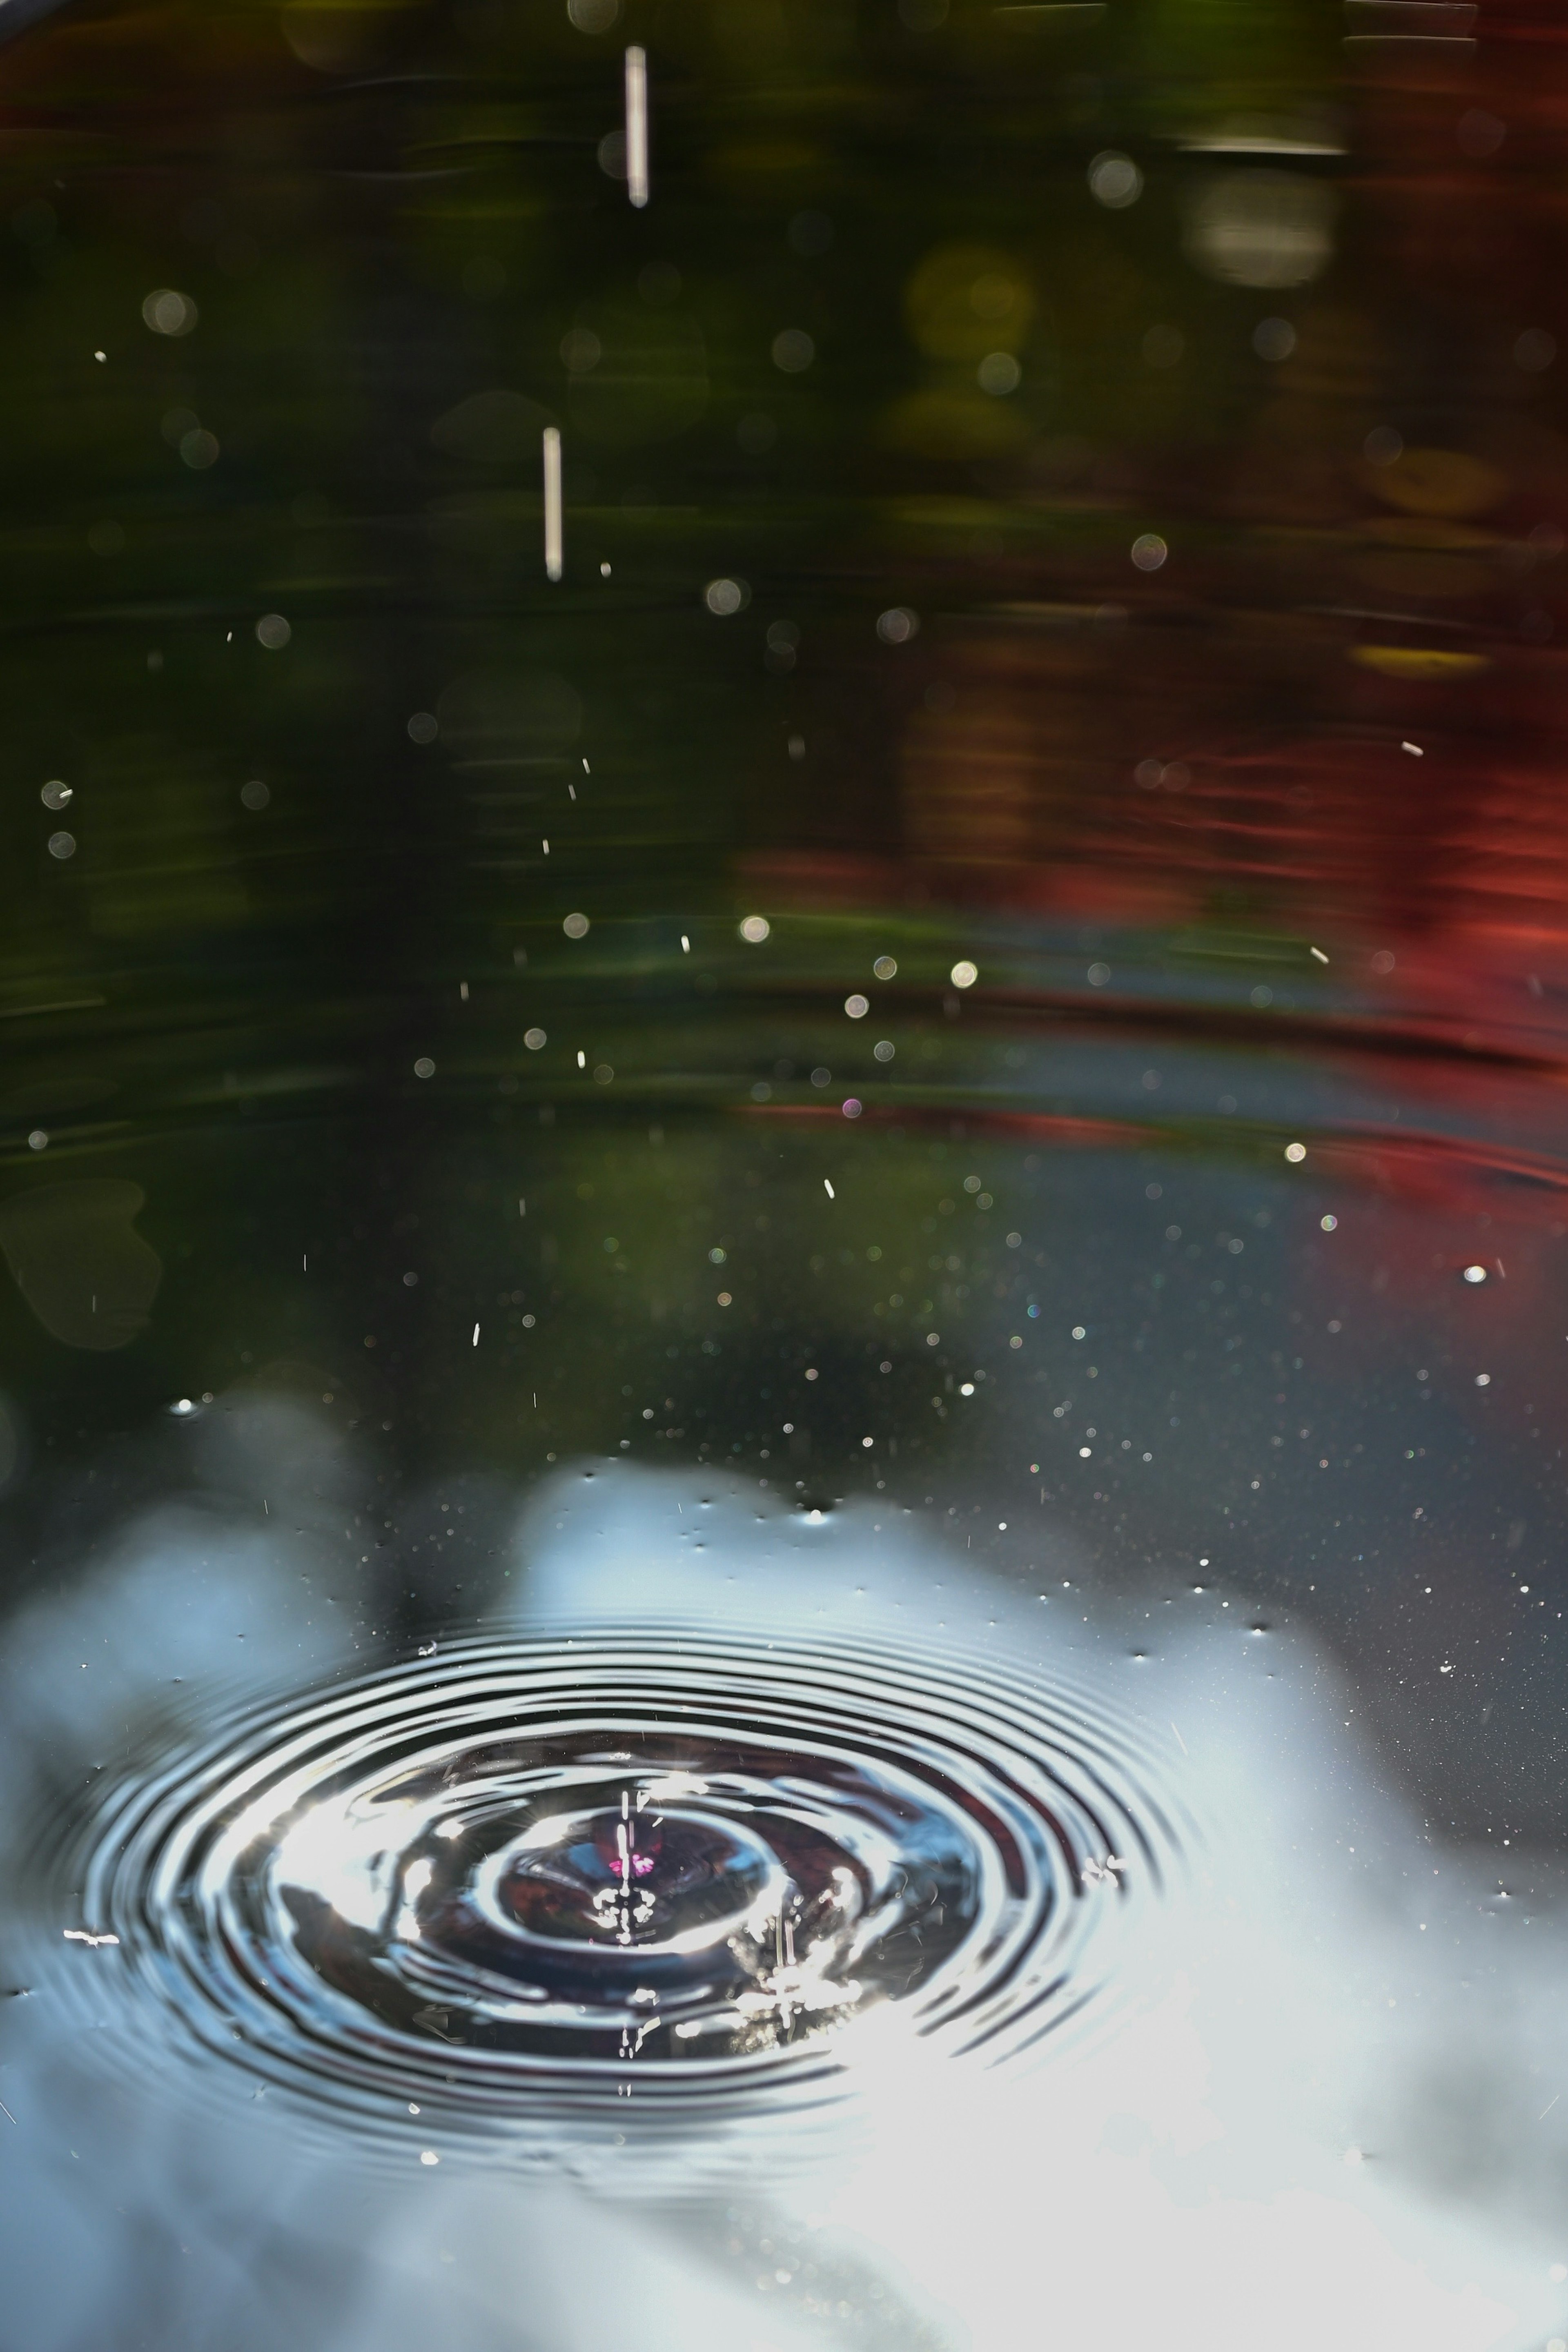
<svg viewBox="0 0 1568 2352"><path fill-rule="evenodd" d="M322 1795L247 1860L275 1952L482 2049L717 2056L903 1994L997 1877L957 1797L870 1759L571 1733ZM630 2037L630 2042L628 2042Z"/></svg>

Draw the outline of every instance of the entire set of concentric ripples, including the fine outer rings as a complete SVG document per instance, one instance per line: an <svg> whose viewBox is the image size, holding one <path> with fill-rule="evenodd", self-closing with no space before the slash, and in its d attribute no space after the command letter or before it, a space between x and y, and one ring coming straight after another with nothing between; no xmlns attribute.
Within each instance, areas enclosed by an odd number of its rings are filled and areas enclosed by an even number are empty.
<svg viewBox="0 0 1568 2352"><path fill-rule="evenodd" d="M1016 2060L1180 1867L1150 1778L1079 1693L893 1644L470 1639L122 1785L73 1882L207 2051L543 2157L820 2114L872 2013Z"/></svg>

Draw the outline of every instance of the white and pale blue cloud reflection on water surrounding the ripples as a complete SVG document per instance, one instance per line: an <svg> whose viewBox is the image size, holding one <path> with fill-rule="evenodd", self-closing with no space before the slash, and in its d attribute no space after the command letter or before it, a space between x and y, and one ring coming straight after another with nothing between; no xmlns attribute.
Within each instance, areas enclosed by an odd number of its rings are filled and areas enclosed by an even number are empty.
<svg viewBox="0 0 1568 2352"><path fill-rule="evenodd" d="M12 1825L158 1733L172 1675L200 1719L247 1682L357 1663L357 1564L329 1531L346 1512L296 1534L322 1465L339 1503L350 1468L303 1416L228 1430L205 1501L141 1517L12 1618ZM254 1524L259 1479L275 1526ZM0 2004L9 2340L78 2352L129 2340L129 2319L167 2352L1530 2352L1568 2333L1549 2274L1568 2260L1563 1936L1523 1893L1542 1872L1521 1865L1502 1900L1443 1849L1302 1635L1232 1630L1225 1595L1175 1585L1166 1623L1147 1599L1119 1623L1065 1548L1051 1583L1004 1590L893 1505L806 1524L717 1475L621 1465L557 1477L498 1592L491 1625L987 1642L1138 1719L1204 1825L1187 1891L1150 1915L1095 2030L1034 2065L954 2065L896 2002L863 2013L839 2042L863 2136L771 2183L748 2150L745 2192L679 2211L618 2199L614 2161L571 2147L550 2178L451 2140L407 2178L360 2164L341 2124L301 2133L242 2067L132 2084L40 1987ZM701 1783L661 1788L682 1795Z"/></svg>

